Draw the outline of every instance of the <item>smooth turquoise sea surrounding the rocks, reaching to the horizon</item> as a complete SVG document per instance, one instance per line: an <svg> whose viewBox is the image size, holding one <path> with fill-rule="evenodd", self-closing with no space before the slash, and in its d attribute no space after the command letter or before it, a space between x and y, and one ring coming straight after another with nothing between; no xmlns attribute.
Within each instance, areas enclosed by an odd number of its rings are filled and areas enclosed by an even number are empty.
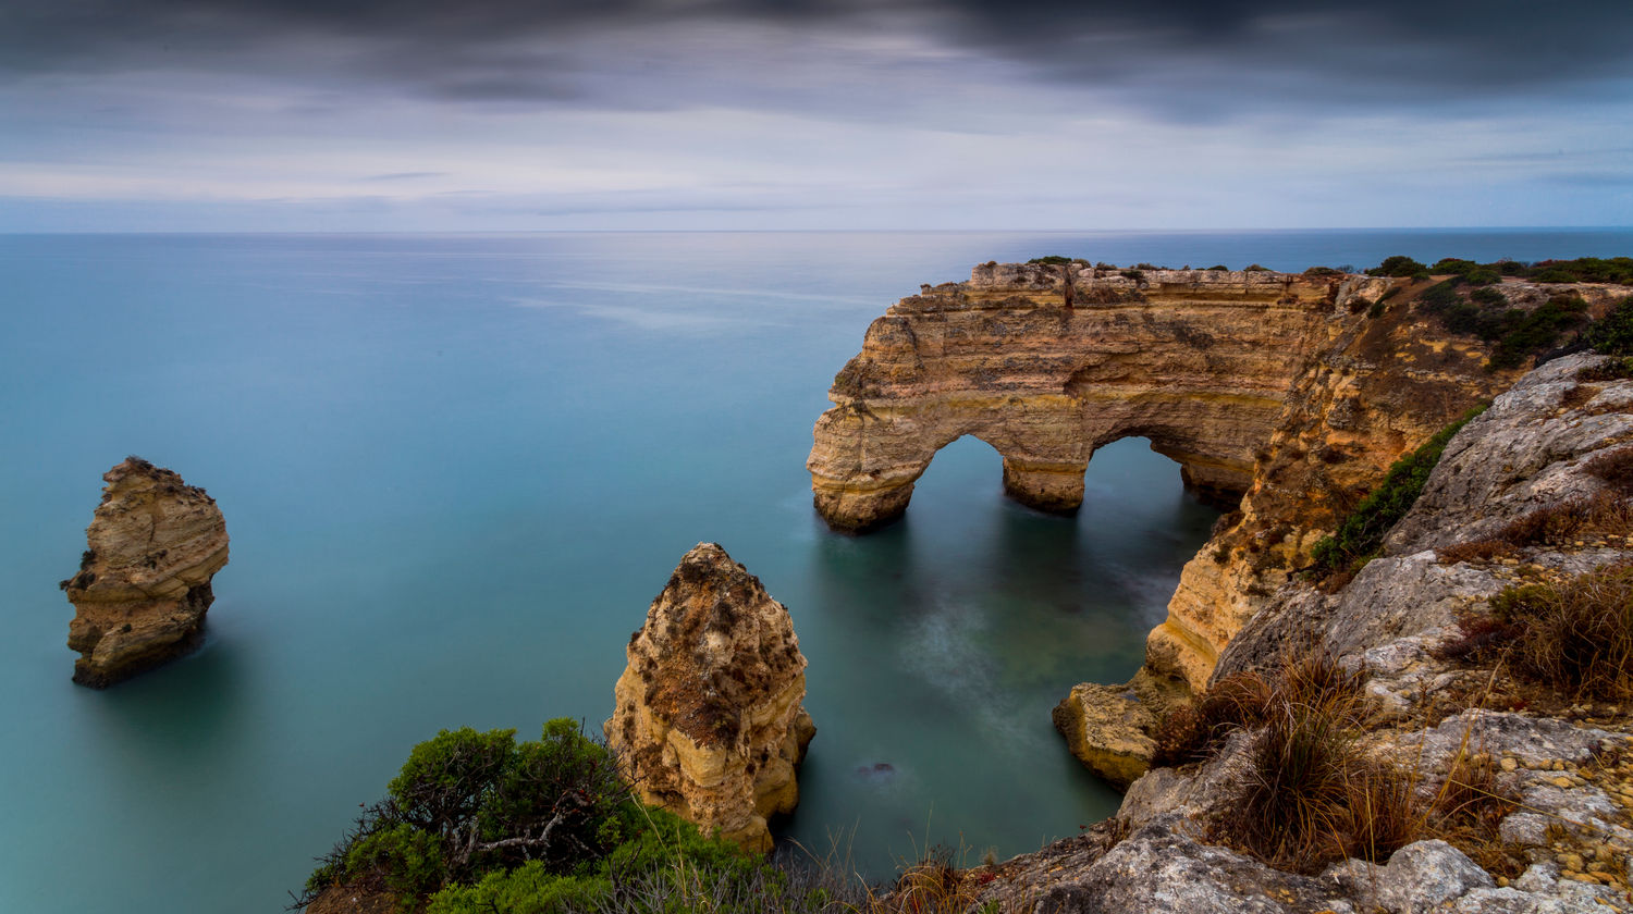
<svg viewBox="0 0 1633 914"><path fill-rule="evenodd" d="M0 237L0 911L287 903L438 728L611 712L624 643L719 540L785 602L820 733L785 834L872 875L1106 816L1050 707L1127 677L1213 512L1124 441L1076 519L937 455L903 524L830 534L810 429L862 331L986 260L1302 269L1622 255L1633 232ZM100 475L227 516L206 646L69 682ZM885 765L885 767L880 767Z"/></svg>

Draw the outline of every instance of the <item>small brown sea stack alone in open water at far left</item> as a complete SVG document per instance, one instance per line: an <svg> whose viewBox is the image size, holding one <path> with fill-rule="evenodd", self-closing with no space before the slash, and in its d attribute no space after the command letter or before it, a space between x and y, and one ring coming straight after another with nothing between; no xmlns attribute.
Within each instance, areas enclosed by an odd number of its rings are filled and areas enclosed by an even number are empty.
<svg viewBox="0 0 1633 914"><path fill-rule="evenodd" d="M227 565L227 522L216 499L139 457L103 473L101 504L85 529L73 604L73 681L103 689L198 646Z"/></svg>

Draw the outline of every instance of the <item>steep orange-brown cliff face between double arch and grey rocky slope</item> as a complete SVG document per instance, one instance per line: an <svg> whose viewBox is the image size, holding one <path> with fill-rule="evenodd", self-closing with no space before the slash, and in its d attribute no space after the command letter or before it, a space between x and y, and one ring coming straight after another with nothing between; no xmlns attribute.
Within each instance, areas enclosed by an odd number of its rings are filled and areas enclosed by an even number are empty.
<svg viewBox="0 0 1633 914"><path fill-rule="evenodd" d="M1235 633L1310 565L1316 540L1390 464L1524 374L1489 370L1489 344L1448 333L1411 307L1426 286L1403 287L1377 317L1333 317L1329 341L1295 377L1256 452L1238 512L1186 563L1168 617L1146 640L1146 669L1202 687ZM1576 294L1591 313L1604 313L1626 289L1507 282L1501 292L1522 308Z"/></svg>

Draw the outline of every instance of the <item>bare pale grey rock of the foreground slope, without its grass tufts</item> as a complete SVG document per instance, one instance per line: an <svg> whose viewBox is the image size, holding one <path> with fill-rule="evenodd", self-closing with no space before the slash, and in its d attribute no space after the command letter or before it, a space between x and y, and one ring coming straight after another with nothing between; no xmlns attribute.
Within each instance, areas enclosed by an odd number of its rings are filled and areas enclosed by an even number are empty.
<svg viewBox="0 0 1633 914"><path fill-rule="evenodd" d="M1633 529L1625 526L1511 544L1493 557L1470 548L1517 519L1584 499L1620 499L1622 516L1633 511L1633 486L1605 470L1626 464L1633 380L1605 380L1615 374L1607 362L1556 359L1497 397L1450 441L1383 557L1333 592L1285 581L1235 635L1217 671L1274 666L1288 645L1329 653L1362 677L1370 697L1373 713L1355 749L1406 772L1414 808L1435 803L1471 756L1489 761L1494 780L1484 790L1509 800L1494 834L1476 837L1475 849L1517 865L1491 873L1426 837L1386 860L1344 860L1311 876L1205 844L1213 823L1239 811L1243 785L1254 777L1262 733L1243 728L1199 764L1145 774L1109 823L977 873L977 903L1096 914L1625 909L1633 712L1569 697L1551 710L1488 710L1515 687L1506 661L1493 666L1483 654L1448 650L1466 635L1463 619L1489 612L1504 588L1633 561Z"/></svg>

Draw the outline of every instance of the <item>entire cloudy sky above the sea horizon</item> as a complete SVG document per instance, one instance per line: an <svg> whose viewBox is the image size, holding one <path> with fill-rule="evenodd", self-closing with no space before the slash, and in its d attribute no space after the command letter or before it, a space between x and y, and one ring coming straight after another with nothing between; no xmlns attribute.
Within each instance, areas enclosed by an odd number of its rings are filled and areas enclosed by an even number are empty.
<svg viewBox="0 0 1633 914"><path fill-rule="evenodd" d="M1628 224L1628 0L0 0L0 232Z"/></svg>

